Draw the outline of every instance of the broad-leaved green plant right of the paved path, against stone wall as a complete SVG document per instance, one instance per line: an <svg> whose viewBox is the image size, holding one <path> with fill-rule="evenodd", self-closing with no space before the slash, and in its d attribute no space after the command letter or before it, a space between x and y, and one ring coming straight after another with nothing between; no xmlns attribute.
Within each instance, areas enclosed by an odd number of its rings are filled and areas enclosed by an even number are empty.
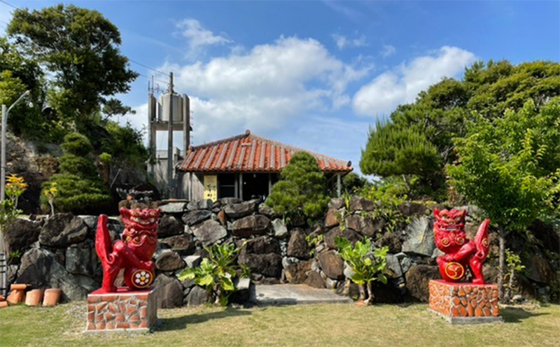
<svg viewBox="0 0 560 347"><path fill-rule="evenodd" d="M357 241L354 246L352 243L341 237L335 238L335 244L339 254L352 268L353 274L350 277L353 283L360 288L360 301L365 304L373 304L374 281L387 283L387 274L391 271L386 269L386 256L388 247L375 248L372 251L370 239Z"/></svg>

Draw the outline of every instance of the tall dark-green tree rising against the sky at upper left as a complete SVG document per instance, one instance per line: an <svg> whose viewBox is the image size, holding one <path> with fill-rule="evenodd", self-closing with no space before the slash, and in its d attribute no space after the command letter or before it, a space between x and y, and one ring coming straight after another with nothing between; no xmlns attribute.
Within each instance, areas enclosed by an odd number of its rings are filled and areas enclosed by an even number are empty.
<svg viewBox="0 0 560 347"><path fill-rule="evenodd" d="M15 10L8 35L54 76L49 101L78 129L138 76L120 54L117 27L96 10L62 4Z"/></svg>

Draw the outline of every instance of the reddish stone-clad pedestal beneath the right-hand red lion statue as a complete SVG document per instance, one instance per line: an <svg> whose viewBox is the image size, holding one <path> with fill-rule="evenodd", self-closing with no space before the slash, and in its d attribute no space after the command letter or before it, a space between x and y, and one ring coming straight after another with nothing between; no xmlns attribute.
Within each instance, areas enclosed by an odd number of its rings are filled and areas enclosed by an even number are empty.
<svg viewBox="0 0 560 347"><path fill-rule="evenodd" d="M452 324L501 321L498 285L430 281L430 310Z"/></svg>

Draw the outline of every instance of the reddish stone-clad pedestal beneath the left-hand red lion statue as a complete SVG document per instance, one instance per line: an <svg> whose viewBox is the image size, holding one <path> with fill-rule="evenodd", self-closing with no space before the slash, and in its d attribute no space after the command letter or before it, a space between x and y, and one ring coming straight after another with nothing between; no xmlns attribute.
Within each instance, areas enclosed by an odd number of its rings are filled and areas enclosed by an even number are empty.
<svg viewBox="0 0 560 347"><path fill-rule="evenodd" d="M158 319L155 290L130 290L120 287L117 292L96 290L87 295L86 332L148 331Z"/></svg>

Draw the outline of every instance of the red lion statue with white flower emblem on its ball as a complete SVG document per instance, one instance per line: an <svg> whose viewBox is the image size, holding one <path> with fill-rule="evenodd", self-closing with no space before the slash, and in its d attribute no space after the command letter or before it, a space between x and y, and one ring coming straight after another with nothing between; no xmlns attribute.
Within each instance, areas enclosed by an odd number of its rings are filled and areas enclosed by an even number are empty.
<svg viewBox="0 0 560 347"><path fill-rule="evenodd" d="M142 290L152 284L155 277L153 253L158 248L159 209L120 208L125 224L123 239L111 244L107 229L107 216L99 215L95 250L102 262L103 284L98 293L117 292L115 279L120 269L125 269L125 283L132 290Z"/></svg>

